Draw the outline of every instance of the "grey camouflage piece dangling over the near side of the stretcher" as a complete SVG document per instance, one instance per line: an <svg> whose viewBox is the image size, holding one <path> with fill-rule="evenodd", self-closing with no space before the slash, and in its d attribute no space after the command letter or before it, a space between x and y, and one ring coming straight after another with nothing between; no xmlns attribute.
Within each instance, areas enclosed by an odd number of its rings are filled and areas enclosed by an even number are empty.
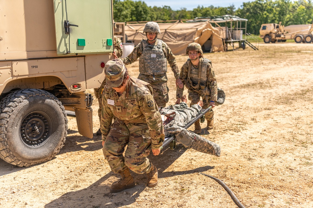
<svg viewBox="0 0 313 208"><path fill-rule="evenodd" d="M221 148L218 144L211 142L210 140L203 138L196 133L190 132L180 126L165 125L164 132L165 135L175 135L177 143L181 143L186 148L192 148L198 152L203 152L218 157L221 154Z"/></svg>

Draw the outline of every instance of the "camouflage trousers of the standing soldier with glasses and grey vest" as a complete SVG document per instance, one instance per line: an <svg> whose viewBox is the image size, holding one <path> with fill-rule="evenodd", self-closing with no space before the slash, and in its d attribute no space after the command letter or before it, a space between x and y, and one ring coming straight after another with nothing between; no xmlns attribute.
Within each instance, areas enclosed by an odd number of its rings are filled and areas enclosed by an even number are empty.
<svg viewBox="0 0 313 208"><path fill-rule="evenodd" d="M168 103L168 87L167 87L167 76L166 74L163 75L143 75L139 74L139 80L148 82L153 89L153 99L156 101L158 107L165 107Z"/></svg>

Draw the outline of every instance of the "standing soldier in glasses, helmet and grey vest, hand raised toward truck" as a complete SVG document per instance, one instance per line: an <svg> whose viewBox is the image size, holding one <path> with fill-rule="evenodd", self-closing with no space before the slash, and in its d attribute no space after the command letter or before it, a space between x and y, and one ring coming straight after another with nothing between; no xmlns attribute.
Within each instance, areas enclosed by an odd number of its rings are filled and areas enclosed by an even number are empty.
<svg viewBox="0 0 313 208"><path fill-rule="evenodd" d="M125 65L135 62L139 58L138 79L152 85L153 97L158 106L165 107L168 102L167 87L167 61L174 72L176 86L183 87L179 79L179 70L175 56L165 42L157 39L160 34L159 25L156 22L148 22L143 29L147 40L142 40L126 58L122 58Z"/></svg>

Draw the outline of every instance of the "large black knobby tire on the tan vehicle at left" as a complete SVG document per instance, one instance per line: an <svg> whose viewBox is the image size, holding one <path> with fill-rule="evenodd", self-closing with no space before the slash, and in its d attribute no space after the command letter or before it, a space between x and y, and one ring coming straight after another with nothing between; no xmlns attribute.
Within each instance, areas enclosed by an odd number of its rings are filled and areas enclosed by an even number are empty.
<svg viewBox="0 0 313 208"><path fill-rule="evenodd" d="M0 102L0 158L28 167L51 160L67 135L64 106L40 89L23 89Z"/></svg>

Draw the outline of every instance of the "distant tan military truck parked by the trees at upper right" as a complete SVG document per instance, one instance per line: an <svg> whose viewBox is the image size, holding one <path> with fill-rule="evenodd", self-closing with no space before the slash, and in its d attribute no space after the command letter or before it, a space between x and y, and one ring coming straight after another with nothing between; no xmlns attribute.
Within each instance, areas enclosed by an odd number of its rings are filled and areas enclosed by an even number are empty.
<svg viewBox="0 0 313 208"><path fill-rule="evenodd" d="M287 29L288 28L288 29ZM294 39L296 43L313 42L313 23L312 25L290 25L284 27L276 23L262 24L260 28L260 37L264 43L286 42Z"/></svg>

